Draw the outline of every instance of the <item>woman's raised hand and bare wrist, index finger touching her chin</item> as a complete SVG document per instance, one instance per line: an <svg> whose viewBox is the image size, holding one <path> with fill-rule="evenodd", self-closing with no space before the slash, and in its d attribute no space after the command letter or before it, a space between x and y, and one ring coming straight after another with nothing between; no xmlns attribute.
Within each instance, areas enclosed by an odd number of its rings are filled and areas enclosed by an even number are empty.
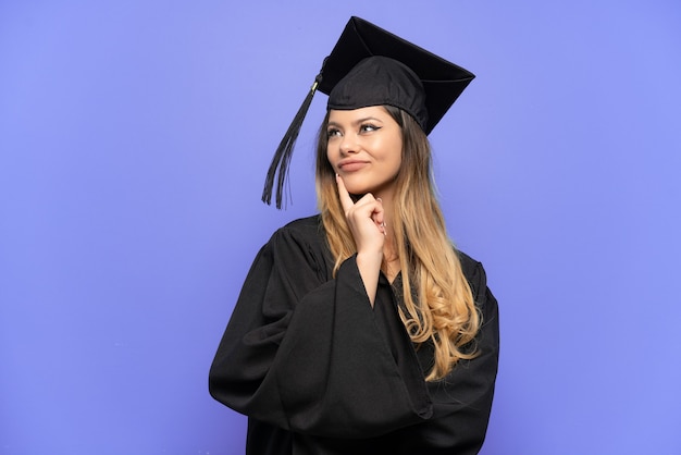
<svg viewBox="0 0 681 455"><path fill-rule="evenodd" d="M373 306L385 244L383 204L372 194L366 194L354 202L339 175L336 175L336 183L340 205L357 247L357 268L364 283L369 302Z"/></svg>

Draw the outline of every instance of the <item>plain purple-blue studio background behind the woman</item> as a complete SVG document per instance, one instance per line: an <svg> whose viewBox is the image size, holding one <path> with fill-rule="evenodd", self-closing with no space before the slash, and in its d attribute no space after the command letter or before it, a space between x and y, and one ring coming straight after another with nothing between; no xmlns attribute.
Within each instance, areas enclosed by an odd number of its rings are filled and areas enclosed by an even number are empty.
<svg viewBox="0 0 681 455"><path fill-rule="evenodd" d="M208 368L352 14L478 75L431 139L500 303L483 454L681 454L676 0L1 1L0 453L243 453Z"/></svg>

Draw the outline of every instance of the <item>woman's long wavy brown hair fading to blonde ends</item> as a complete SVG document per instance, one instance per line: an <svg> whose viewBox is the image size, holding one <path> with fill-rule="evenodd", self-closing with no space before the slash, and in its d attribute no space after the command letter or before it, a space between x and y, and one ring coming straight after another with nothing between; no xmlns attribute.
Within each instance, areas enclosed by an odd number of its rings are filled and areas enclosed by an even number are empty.
<svg viewBox="0 0 681 455"><path fill-rule="evenodd" d="M399 307L399 316L413 343L433 344L434 362L425 379L436 381L460 359L476 356L473 341L482 320L447 235L435 195L428 137L411 115L391 106L385 109L403 135L401 167L395 180L391 217L403 278L400 294L405 306ZM319 131L315 185L329 246L335 258L335 275L340 263L357 249L338 198L335 171L326 157L327 122L329 114ZM385 272L385 263L382 269Z"/></svg>

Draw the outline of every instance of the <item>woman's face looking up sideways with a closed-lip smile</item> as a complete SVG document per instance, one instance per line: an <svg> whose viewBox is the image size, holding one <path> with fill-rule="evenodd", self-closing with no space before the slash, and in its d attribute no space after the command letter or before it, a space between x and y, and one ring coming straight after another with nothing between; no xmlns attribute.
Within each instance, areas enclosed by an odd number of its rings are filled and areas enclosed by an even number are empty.
<svg viewBox="0 0 681 455"><path fill-rule="evenodd" d="M389 192L401 165L401 130L381 106L331 110L326 158L350 194Z"/></svg>

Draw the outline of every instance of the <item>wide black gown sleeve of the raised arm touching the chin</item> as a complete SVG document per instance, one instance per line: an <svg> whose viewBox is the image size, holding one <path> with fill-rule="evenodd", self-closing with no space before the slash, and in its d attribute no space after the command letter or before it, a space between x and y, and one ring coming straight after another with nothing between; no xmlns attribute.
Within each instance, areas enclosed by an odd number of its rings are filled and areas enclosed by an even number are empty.
<svg viewBox="0 0 681 455"><path fill-rule="evenodd" d="M313 436L366 439L429 419L417 354L395 356L356 258L332 279L307 237L284 228L259 251L211 366L211 395Z"/></svg>

